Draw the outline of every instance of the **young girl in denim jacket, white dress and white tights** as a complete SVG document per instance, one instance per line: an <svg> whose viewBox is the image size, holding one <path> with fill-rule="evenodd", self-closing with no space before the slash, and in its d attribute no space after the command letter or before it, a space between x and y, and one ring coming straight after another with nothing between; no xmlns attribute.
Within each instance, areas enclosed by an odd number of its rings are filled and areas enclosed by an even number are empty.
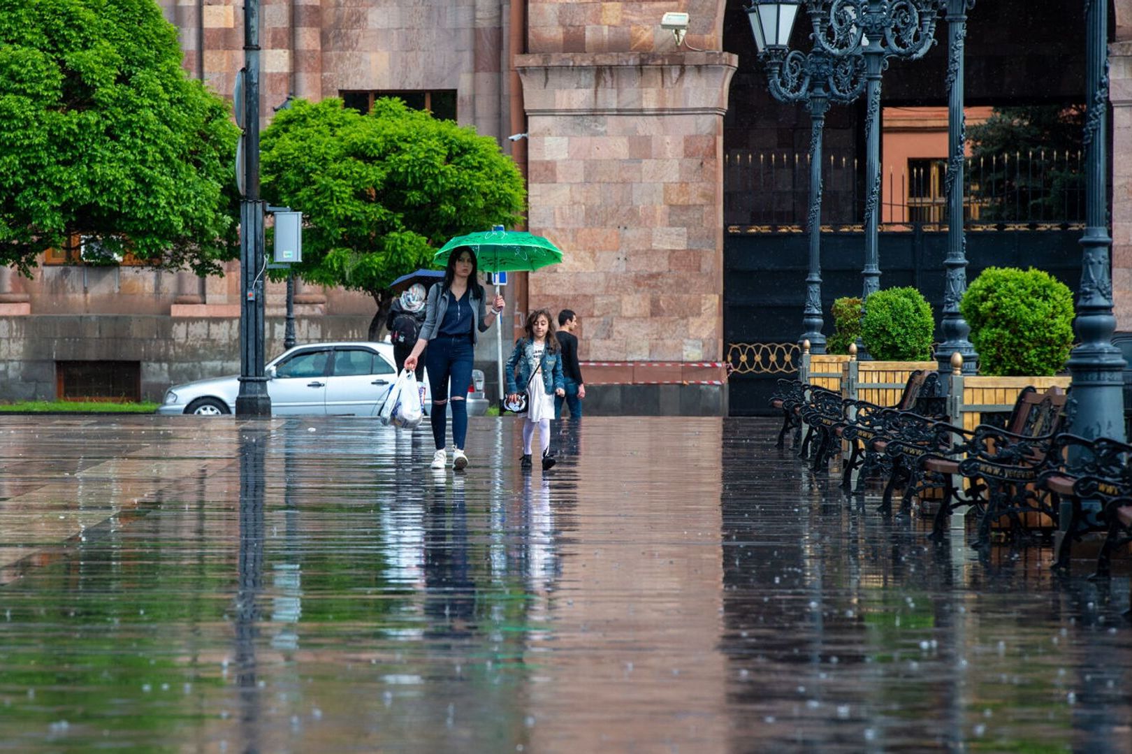
<svg viewBox="0 0 1132 754"><path fill-rule="evenodd" d="M542 470L555 465L550 455L550 420L555 415L555 395L566 395L563 361L558 339L554 335L550 311L537 309L526 318L526 337L518 339L507 359L507 399L514 401L526 392L526 417L523 420L524 469L531 468L531 438L539 427L542 446Z"/></svg>

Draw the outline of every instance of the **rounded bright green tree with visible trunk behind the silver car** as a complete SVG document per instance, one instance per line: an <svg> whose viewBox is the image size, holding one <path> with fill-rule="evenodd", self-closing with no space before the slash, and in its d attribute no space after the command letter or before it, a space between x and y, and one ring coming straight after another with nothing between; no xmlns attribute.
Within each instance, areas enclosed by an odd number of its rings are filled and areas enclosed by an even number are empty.
<svg viewBox="0 0 1132 754"><path fill-rule="evenodd" d="M430 266L453 235L522 217L523 178L494 139L400 100L378 100L369 114L337 98L297 100L260 154L264 196L305 215L295 272L371 295L370 340L396 277Z"/></svg>

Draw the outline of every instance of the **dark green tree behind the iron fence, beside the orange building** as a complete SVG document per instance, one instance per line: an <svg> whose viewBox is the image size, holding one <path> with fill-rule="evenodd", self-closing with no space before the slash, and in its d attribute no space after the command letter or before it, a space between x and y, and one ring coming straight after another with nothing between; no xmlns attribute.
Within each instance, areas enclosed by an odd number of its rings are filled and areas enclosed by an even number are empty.
<svg viewBox="0 0 1132 754"><path fill-rule="evenodd" d="M967 129L971 143L968 180L983 221L1081 219L1084 108L995 108Z"/></svg>

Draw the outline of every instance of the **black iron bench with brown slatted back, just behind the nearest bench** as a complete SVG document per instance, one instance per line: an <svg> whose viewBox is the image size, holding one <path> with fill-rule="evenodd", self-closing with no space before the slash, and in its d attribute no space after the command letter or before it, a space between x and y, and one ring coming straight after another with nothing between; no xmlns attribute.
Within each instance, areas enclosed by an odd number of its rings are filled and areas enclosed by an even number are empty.
<svg viewBox="0 0 1132 754"><path fill-rule="evenodd" d="M943 490L934 538L943 535L947 516L967 505L980 512L979 547L989 543L990 525L1003 516L1010 517L1015 534L1021 533L1023 513L1057 520L1049 495L1037 489L1036 482L1061 429L1066 397L1060 387L1041 393L1027 387L1019 394L1005 429L985 423L972 430L945 423L927 428L929 434L919 437L918 449L924 452L906 456L909 464L915 462L909 468L906 498L918 495L923 499L927 489ZM946 452L938 451L938 446L935 451L925 447L941 443L944 435L955 438ZM967 480L966 489L959 480Z"/></svg>

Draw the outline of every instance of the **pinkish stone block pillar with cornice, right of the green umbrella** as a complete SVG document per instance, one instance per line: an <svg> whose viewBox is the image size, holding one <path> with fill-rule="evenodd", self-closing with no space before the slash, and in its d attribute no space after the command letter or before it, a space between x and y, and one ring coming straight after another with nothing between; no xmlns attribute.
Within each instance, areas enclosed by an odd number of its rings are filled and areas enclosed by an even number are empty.
<svg viewBox="0 0 1132 754"><path fill-rule="evenodd" d="M723 114L737 58L547 52L515 67L530 230L571 250L531 274L530 306L574 309L583 357L637 362L636 382L718 380L698 370L723 359Z"/></svg>

